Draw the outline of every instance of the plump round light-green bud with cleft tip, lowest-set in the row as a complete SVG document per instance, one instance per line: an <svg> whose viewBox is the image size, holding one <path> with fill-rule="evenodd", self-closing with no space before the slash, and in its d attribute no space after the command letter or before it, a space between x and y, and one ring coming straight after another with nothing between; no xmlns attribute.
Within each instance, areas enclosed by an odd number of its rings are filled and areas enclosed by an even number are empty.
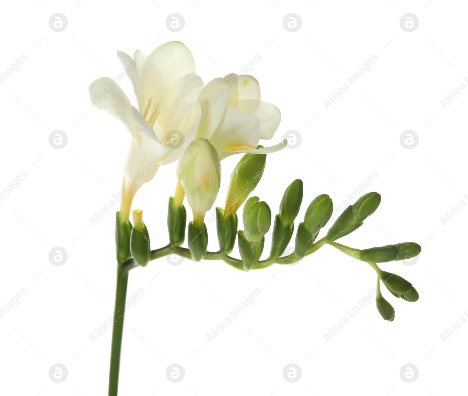
<svg viewBox="0 0 468 396"><path fill-rule="evenodd" d="M268 232L271 226L271 210L266 202L258 202L258 197L251 197L244 205L242 219L244 220L244 237L252 245Z"/></svg>

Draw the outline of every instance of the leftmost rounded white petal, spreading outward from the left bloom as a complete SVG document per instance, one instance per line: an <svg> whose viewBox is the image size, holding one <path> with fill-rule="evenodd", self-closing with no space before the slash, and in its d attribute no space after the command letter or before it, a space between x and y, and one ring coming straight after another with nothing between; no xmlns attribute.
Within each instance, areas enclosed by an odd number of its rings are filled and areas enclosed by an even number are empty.
<svg viewBox="0 0 468 396"><path fill-rule="evenodd" d="M130 134L136 136L132 104L114 80L109 77L98 78L89 85L89 95L94 106L122 122Z"/></svg>

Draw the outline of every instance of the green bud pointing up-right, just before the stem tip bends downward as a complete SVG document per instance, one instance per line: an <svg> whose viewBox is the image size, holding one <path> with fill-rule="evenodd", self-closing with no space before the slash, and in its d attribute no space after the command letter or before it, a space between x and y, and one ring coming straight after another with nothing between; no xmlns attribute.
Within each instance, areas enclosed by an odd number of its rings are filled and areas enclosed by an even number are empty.
<svg viewBox="0 0 468 396"><path fill-rule="evenodd" d="M328 230L329 240L337 240L357 230L362 226L363 221L379 207L380 200L379 193L369 192L353 205L348 206Z"/></svg>

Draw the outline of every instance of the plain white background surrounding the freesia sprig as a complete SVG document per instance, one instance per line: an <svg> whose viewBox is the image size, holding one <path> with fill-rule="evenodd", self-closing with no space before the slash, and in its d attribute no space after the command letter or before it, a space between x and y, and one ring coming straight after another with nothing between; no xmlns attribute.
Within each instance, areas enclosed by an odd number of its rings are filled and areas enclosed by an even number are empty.
<svg viewBox="0 0 468 396"><path fill-rule="evenodd" d="M440 101L468 77L467 5L440 0L76 2L8 2L0 14L0 73L27 56L0 85L0 190L27 173L0 202L0 306L27 290L0 319L2 394L107 394L111 330L94 342L90 334L113 311L118 206L94 226L90 217L121 189L129 136L117 120L91 107L88 86L121 72L117 50L148 53L171 40L190 48L205 83L240 72L261 56L250 74L260 83L262 99L282 113L271 143L292 129L302 136L299 148L268 156L255 195L272 212L295 178L304 181L297 225L318 194L329 194L336 206L352 203L346 195L378 173L365 192L380 192L379 209L340 242L358 248L420 243L415 265L381 265L412 282L420 299L411 304L383 290L395 307L394 322L380 317L372 299L327 342L324 333L375 287L375 274L364 262L329 246L296 266L249 273L223 262L187 260L171 266L159 259L130 273L129 295L139 288L144 293L126 313L119 394L466 392L468 324L445 342L441 333L468 310L468 208L445 225L441 217L461 200L468 202L468 92L445 109ZM63 32L49 27L55 13L68 19ZM185 19L178 33L166 28L171 13ZM283 27L289 13L300 15L297 32ZM411 33L400 27L406 13L419 19ZM378 60L371 70L327 109L328 95L373 54ZM132 92L128 80L120 86ZM65 148L49 144L56 129L68 136ZM412 149L400 144L408 129L419 136ZM215 205L223 205L239 158L223 161ZM133 208L144 210L153 248L168 241L167 202L175 168L176 163L162 168L134 200ZM218 248L213 219L208 213L205 220L210 250ZM62 266L48 258L57 246L68 253ZM267 238L264 255L269 246ZM210 343L206 334L256 288L262 292L255 303ZM49 378L56 363L68 369L64 382ZM172 363L185 369L182 382L166 378ZM290 363L302 369L298 382L283 378ZM415 382L400 378L407 363L419 370Z"/></svg>

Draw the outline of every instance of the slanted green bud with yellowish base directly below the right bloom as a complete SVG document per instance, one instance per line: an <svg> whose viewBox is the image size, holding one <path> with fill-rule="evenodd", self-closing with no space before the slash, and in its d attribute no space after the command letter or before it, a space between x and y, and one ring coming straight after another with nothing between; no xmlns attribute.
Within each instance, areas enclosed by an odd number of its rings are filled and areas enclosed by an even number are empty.
<svg viewBox="0 0 468 396"><path fill-rule="evenodd" d="M258 146L257 148L263 148ZM265 169L266 154L244 154L235 166L226 194L225 216L237 212L260 182ZM234 235L235 240L235 235Z"/></svg>

